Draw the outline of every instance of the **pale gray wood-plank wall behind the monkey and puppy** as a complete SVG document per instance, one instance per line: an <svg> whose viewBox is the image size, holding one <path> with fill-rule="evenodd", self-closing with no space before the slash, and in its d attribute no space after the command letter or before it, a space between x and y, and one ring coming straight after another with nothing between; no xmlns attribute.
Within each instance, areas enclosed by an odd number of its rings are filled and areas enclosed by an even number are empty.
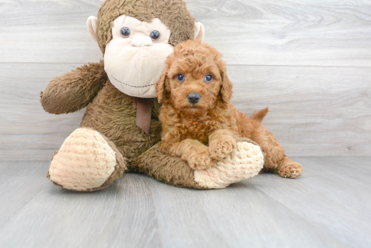
<svg viewBox="0 0 371 248"><path fill-rule="evenodd" d="M45 113L54 77L102 54L85 27L102 0L0 0L0 159L50 159L84 110ZM371 2L187 0L246 114L290 156L371 153Z"/></svg>

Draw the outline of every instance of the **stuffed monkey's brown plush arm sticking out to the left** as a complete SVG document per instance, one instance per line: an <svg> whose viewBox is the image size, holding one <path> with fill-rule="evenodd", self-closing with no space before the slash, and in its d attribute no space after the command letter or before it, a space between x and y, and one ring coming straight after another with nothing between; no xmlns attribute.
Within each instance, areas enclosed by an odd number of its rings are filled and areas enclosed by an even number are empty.
<svg viewBox="0 0 371 248"><path fill-rule="evenodd" d="M51 114L67 114L86 107L107 80L104 63L89 63L54 78L40 93L41 105Z"/></svg>

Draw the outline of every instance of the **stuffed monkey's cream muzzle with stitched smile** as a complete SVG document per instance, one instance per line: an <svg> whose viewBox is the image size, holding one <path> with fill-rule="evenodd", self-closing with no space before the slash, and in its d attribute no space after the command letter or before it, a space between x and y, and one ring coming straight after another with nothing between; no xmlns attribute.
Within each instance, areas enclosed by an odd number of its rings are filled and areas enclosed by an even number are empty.
<svg viewBox="0 0 371 248"><path fill-rule="evenodd" d="M126 95L156 97L155 84L164 69L166 58L174 52L170 44L135 47L113 39L106 46L104 69L111 83ZM126 44L126 43L124 43ZM119 52L116 47L122 47Z"/></svg>

